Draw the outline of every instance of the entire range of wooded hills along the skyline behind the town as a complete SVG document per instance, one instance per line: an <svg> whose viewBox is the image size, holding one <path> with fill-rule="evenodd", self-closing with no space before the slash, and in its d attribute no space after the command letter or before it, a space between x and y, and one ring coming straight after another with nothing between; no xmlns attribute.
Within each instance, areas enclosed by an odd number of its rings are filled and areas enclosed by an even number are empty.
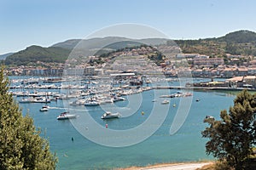
<svg viewBox="0 0 256 170"><path fill-rule="evenodd" d="M183 53L206 54L217 57L225 57L226 54L256 56L256 33L253 31L235 31L224 37L175 40L175 42ZM75 55L80 57L83 56L85 50L89 51L90 54L104 54L119 48L141 44L157 46L166 43L172 45L173 41L164 38L134 40L125 37L98 37L82 41L71 39L56 43L49 48L28 47L18 53L9 55L5 59L5 65L34 65L38 61L64 63L73 48L76 48L77 53Z"/></svg>

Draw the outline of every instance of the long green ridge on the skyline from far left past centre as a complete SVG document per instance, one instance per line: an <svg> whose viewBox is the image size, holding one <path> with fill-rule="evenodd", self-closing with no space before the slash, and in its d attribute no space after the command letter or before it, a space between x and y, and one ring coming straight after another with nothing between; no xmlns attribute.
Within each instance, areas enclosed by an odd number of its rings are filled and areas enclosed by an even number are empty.
<svg viewBox="0 0 256 170"><path fill-rule="evenodd" d="M40 46L28 47L8 56L5 59L5 65L35 65L38 61L45 63L65 63L73 48L75 48L75 53L73 54L82 57L84 54L104 54L119 48L133 47L143 43L155 45L165 42L167 40L163 38L142 40L132 40L125 37L97 37L85 40L71 39L65 42L55 43L49 48Z"/></svg>

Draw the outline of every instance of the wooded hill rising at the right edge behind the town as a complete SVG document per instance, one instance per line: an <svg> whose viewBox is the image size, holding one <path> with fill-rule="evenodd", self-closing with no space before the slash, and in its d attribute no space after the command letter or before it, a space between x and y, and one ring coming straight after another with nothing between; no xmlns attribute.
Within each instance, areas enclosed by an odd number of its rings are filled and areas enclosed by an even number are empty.
<svg viewBox="0 0 256 170"><path fill-rule="evenodd" d="M256 56L256 33L253 31L235 31L224 37L199 40L177 40L177 45L183 53L215 54L224 57L225 54Z"/></svg>

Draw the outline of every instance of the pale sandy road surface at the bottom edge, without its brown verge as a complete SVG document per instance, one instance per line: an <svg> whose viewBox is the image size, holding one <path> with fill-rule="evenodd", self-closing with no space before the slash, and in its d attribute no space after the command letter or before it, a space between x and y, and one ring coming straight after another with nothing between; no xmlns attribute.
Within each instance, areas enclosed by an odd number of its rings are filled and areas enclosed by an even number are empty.
<svg viewBox="0 0 256 170"><path fill-rule="evenodd" d="M211 162L201 162L201 163L184 163L184 164L173 164L173 165L161 165L156 167L143 167L140 170L195 170L201 168Z"/></svg>

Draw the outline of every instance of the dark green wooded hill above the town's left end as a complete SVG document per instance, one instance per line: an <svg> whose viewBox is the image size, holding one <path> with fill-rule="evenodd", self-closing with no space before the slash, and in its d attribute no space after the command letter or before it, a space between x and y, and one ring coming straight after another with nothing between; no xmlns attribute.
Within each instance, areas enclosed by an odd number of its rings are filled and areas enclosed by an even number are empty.
<svg viewBox="0 0 256 170"><path fill-rule="evenodd" d="M18 53L9 55L5 59L6 65L28 65L29 63L36 64L41 62L57 62L64 63L70 53L67 48L42 48L39 46L31 46Z"/></svg>

